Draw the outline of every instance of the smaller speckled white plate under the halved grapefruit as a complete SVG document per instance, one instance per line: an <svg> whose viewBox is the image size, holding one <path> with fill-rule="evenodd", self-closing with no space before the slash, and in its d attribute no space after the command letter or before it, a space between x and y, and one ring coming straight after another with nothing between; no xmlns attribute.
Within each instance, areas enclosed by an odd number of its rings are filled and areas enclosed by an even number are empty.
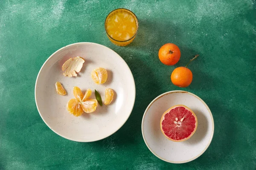
<svg viewBox="0 0 256 170"><path fill-rule="evenodd" d="M160 129L163 113L174 105L186 105L198 119L195 133L184 142L167 139ZM176 164L201 156L209 147L213 133L214 122L210 109L202 99L186 91L161 94L148 105L142 119L142 135L148 149L158 158Z"/></svg>

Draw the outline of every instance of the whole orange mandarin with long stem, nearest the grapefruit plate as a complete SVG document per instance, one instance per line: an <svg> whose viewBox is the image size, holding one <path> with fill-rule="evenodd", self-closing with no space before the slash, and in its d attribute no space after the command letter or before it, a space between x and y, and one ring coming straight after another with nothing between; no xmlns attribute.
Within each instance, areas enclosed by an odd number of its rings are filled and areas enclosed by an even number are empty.
<svg viewBox="0 0 256 170"><path fill-rule="evenodd" d="M189 63L196 59L198 56L199 55L195 55L194 58L190 59ZM189 63L185 67L178 67L172 71L171 80L174 85L177 85L180 88L186 88L191 84L193 74L189 68L187 68Z"/></svg>

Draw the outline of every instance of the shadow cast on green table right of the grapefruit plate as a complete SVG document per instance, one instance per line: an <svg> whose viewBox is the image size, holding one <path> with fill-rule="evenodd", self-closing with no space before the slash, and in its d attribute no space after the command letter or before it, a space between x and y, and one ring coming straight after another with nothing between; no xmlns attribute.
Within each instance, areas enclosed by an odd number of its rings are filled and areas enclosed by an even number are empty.
<svg viewBox="0 0 256 170"><path fill-rule="evenodd" d="M232 108L228 108L225 103L217 99L206 99L205 102L212 111L215 129L212 142L209 148L198 159L186 163L187 167L217 167L233 152L237 131L234 119L230 117L236 113ZM193 136L192 136L193 137Z"/></svg>

